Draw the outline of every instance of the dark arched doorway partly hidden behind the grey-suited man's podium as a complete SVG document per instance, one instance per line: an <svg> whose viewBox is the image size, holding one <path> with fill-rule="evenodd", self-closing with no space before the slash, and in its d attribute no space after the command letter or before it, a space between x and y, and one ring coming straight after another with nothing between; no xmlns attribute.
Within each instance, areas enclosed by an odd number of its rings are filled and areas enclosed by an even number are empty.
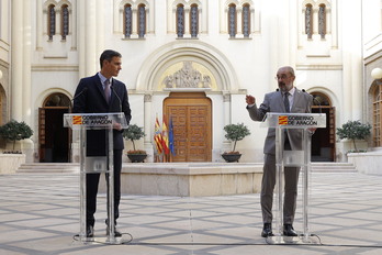
<svg viewBox="0 0 382 255"><path fill-rule="evenodd" d="M336 159L336 119L335 108L329 98L322 92L312 92L312 112L326 113L326 127L317 129L312 136L312 162L335 162Z"/></svg>

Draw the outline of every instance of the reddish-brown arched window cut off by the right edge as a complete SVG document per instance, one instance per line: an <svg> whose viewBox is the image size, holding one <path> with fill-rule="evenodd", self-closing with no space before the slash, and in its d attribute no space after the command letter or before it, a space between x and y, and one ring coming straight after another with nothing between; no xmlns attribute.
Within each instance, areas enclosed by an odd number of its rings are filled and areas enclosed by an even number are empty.
<svg viewBox="0 0 382 255"><path fill-rule="evenodd" d="M382 84L379 84L373 91L373 146L381 147L381 111L382 111Z"/></svg>

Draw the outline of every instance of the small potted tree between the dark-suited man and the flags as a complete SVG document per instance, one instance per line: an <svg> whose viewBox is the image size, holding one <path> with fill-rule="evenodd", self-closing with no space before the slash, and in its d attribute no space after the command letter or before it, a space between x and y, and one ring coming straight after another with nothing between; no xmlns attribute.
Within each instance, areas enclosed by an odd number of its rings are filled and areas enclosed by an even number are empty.
<svg viewBox="0 0 382 255"><path fill-rule="evenodd" d="M131 162L144 162L147 157L146 151L143 149L136 149L134 141L137 141L142 137L144 137L146 134L143 131L143 127L137 126L136 124L128 125L127 129L123 131L123 137L126 140L132 141L133 143L133 149L130 149L127 152L127 157Z"/></svg>

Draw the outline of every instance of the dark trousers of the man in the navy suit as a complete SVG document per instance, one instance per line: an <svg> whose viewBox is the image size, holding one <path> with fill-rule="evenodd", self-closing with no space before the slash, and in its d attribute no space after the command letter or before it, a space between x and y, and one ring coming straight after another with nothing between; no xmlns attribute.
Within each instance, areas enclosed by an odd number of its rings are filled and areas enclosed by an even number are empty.
<svg viewBox="0 0 382 255"><path fill-rule="evenodd" d="M114 149L114 223L120 217L120 200L121 200L121 169L122 169L122 149ZM100 174L87 174L87 225L94 225L94 213L97 210L97 193L100 181ZM109 175L105 175L109 190ZM109 192L108 192L109 201ZM108 203L109 204L109 203ZM106 207L109 214L109 210ZM109 215L108 215L109 219ZM108 221L106 221L108 223Z"/></svg>

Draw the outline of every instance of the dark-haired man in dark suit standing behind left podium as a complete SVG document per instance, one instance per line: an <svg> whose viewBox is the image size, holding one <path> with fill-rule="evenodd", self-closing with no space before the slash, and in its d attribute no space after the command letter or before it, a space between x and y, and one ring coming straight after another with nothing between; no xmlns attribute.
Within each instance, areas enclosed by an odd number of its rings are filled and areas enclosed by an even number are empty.
<svg viewBox="0 0 382 255"><path fill-rule="evenodd" d="M114 79L122 69L122 55L115 51L106 49L100 56L101 70L91 77L82 78L76 89L74 112L76 113L110 113L123 112L127 124L132 115L126 86ZM114 125L114 221L120 215L121 200L121 168L122 151L124 148L123 130ZM87 132L87 156L105 156L106 131L90 130ZM87 174L87 236L93 236L94 213L97 210L97 192L100 174ZM108 178L106 178L108 181ZM109 181L108 181L109 185ZM109 221L106 220L106 224ZM106 231L109 228L106 228ZM121 233L114 230L115 236Z"/></svg>

